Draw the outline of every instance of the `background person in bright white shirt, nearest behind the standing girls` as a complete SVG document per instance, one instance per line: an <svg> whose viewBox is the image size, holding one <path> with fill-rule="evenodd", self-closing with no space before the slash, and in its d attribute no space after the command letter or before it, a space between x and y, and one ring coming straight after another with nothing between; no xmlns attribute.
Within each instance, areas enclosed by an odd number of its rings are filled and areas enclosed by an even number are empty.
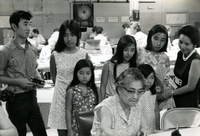
<svg viewBox="0 0 200 136"><path fill-rule="evenodd" d="M131 35L135 38L138 47L144 48L147 44L147 35L141 31L140 23L133 21L130 23Z"/></svg>

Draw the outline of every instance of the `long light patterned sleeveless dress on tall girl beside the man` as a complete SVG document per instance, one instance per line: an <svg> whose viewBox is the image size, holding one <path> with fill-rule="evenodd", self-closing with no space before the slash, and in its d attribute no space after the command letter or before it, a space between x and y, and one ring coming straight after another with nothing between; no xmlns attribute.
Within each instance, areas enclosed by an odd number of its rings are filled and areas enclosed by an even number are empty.
<svg viewBox="0 0 200 136"><path fill-rule="evenodd" d="M87 51L80 48L73 54L54 51L56 62L56 83L54 95L50 107L48 126L55 129L67 129L65 118L65 97L66 89L73 79L73 72L76 63L80 59L85 59Z"/></svg>

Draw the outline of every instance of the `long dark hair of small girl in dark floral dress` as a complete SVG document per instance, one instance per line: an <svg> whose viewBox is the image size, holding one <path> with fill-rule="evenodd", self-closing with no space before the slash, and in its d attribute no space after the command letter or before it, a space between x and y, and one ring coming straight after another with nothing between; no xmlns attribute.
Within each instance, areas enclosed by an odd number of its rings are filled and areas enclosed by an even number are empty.
<svg viewBox="0 0 200 136"><path fill-rule="evenodd" d="M98 102L98 92L97 92L97 87L96 87L95 78L94 78L95 77L94 76L94 66L93 66L92 62L88 59L81 59L76 63L75 68L74 68L73 79L72 79L72 82L70 83L70 85L68 86L67 90L70 87L74 87L80 83L80 81L78 80L77 73L80 69L85 68L85 67L89 67L91 70L91 73L92 73L91 79L87 83L87 86L90 87L94 91L94 94L95 94L97 102Z"/></svg>

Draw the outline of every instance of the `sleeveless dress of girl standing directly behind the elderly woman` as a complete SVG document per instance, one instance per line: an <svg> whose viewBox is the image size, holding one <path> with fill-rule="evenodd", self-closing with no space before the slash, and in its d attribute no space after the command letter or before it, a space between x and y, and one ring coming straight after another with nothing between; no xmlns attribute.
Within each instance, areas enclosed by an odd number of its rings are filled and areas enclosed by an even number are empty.
<svg viewBox="0 0 200 136"><path fill-rule="evenodd" d="M114 63L111 61L107 61L108 63L108 79L107 79L107 85L106 85L106 98L109 96L113 96L116 94L116 87L115 87L115 79L114 79ZM124 70L129 68L129 63L121 63L117 65L117 74L116 77L118 77Z"/></svg>

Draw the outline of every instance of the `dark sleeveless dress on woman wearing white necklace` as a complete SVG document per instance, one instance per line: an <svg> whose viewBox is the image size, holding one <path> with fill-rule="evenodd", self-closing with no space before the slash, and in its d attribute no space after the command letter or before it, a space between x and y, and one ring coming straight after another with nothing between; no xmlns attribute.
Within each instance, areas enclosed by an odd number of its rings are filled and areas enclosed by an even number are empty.
<svg viewBox="0 0 200 136"><path fill-rule="evenodd" d="M191 63L194 59L200 60L200 55L197 52L193 53L187 61L183 60L183 53L180 51L178 52L177 60L174 67L174 82L176 83L178 88L187 85L189 78L189 70L191 67ZM199 89L200 79L197 82L196 87L193 91L182 95L174 96L176 107L198 107Z"/></svg>

